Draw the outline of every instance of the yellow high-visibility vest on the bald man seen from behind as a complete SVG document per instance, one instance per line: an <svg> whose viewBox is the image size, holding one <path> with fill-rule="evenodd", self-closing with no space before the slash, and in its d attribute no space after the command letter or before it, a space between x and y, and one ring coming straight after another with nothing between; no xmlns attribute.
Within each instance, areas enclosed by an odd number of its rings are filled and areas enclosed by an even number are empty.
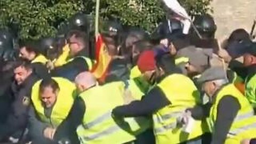
<svg viewBox="0 0 256 144"><path fill-rule="evenodd" d="M83 123L77 128L81 143L109 144L135 140L139 126L135 118L113 118L111 110L125 103L125 84L113 82L95 86L79 95L86 106Z"/></svg>

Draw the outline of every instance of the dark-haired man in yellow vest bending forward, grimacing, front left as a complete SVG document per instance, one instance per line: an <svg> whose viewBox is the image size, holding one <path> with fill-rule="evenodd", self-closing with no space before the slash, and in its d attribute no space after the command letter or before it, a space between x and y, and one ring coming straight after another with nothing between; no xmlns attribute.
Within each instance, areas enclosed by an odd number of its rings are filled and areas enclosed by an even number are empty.
<svg viewBox="0 0 256 144"><path fill-rule="evenodd" d="M35 143L53 143L53 135L66 119L76 86L65 78L45 78L35 83L31 92L33 106L29 111L29 133Z"/></svg>

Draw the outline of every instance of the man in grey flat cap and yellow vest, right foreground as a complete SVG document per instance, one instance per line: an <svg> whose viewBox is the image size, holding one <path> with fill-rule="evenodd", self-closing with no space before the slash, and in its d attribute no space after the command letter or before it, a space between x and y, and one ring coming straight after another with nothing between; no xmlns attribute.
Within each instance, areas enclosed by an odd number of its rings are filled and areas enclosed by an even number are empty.
<svg viewBox="0 0 256 144"><path fill-rule="evenodd" d="M195 116L198 111L208 111L204 117L209 116L207 122L212 132L211 143L240 143L244 139L255 138L256 116L253 108L235 85L228 83L223 67L207 69L198 82L211 101L208 107L191 109L191 113Z"/></svg>

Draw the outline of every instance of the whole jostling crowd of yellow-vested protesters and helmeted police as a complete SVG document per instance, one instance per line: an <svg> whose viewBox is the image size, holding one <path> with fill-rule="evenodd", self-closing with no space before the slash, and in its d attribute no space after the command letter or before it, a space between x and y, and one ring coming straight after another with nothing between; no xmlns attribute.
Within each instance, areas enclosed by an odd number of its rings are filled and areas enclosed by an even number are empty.
<svg viewBox="0 0 256 144"><path fill-rule="evenodd" d="M172 14L151 35L104 21L96 44L79 19L16 55L1 34L0 141L256 143L253 38L220 42L209 14L183 34Z"/></svg>

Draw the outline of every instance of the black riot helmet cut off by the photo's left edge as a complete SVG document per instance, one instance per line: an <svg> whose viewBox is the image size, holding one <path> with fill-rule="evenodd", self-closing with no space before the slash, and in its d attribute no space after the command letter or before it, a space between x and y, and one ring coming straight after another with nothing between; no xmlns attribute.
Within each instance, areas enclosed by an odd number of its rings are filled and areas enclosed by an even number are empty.
<svg viewBox="0 0 256 144"><path fill-rule="evenodd" d="M4 61L15 59L13 44L13 34L8 29L0 29L0 59Z"/></svg>

